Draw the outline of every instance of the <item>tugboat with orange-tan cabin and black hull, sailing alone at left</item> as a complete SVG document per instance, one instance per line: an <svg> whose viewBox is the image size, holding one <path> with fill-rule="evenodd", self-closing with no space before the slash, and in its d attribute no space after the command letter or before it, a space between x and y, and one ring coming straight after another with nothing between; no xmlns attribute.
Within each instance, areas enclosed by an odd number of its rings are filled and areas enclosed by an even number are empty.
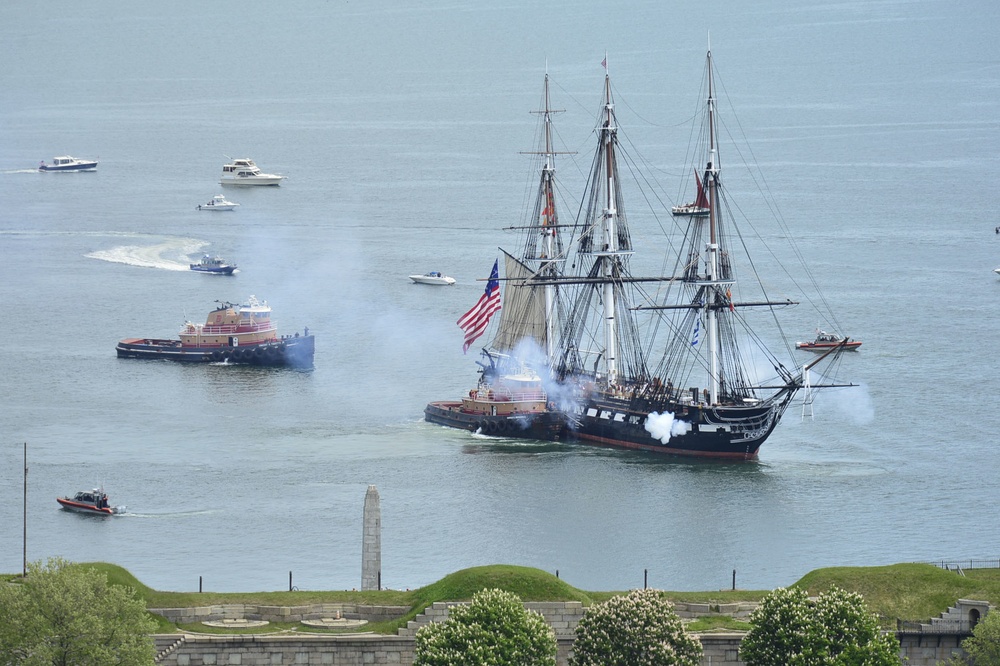
<svg viewBox="0 0 1000 666"><path fill-rule="evenodd" d="M204 324L185 322L178 340L126 338L116 346L118 358L165 359L186 363L235 363L311 368L315 337L308 327L300 335L278 336L267 301L251 296L237 305L216 301Z"/></svg>

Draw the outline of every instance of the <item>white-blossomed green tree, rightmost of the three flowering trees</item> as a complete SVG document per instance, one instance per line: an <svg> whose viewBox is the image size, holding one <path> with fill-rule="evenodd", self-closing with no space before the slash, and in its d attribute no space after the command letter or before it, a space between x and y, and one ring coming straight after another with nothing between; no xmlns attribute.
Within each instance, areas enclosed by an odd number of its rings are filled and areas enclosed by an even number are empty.
<svg viewBox="0 0 1000 666"><path fill-rule="evenodd" d="M815 603L800 588L778 588L750 616L740 643L747 666L891 666L900 663L899 640L879 630L878 619L856 592L832 587Z"/></svg>

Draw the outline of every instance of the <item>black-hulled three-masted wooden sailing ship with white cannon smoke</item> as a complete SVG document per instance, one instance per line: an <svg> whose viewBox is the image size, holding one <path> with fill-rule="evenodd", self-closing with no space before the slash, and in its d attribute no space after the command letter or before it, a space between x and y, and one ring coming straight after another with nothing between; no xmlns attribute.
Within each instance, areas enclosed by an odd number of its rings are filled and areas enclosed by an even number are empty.
<svg viewBox="0 0 1000 666"><path fill-rule="evenodd" d="M565 225L569 240L556 233L562 225L547 166L537 224L520 257L505 253L503 316L484 349L488 364L479 387L461 405L431 403L427 420L462 427L459 418L475 415L480 420L466 427L488 434L538 436L544 424L546 439L751 460L800 390L845 386L809 379L812 367L842 348L802 367L786 366L768 349L768 342L783 341L777 312L795 303L770 297L759 280L738 280L737 254L747 243L721 178L711 52L706 71L704 161L696 170L695 201L670 210L683 224L670 273L632 271L637 248L619 172L624 149L605 72L597 149L579 216ZM746 265L747 276L756 277L749 257ZM768 320L773 333L758 326ZM524 367L527 358L536 359L531 376L545 389L530 413L518 415L530 427L482 420L486 410L500 410L481 392L495 395L505 376L521 376L509 368Z"/></svg>

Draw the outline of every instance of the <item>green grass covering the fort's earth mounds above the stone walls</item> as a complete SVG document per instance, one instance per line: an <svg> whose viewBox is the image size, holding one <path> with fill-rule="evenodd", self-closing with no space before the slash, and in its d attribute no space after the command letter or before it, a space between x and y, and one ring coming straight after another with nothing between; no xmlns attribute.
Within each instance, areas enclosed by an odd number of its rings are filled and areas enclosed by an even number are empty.
<svg viewBox="0 0 1000 666"><path fill-rule="evenodd" d="M266 606L304 606L319 603L372 604L402 606L409 609L405 617L393 622L370 623L364 631L392 634L436 601L467 601L487 588L500 588L518 595L524 601L579 601L584 606L600 603L619 592L585 592L567 584L552 574L530 567L492 565L463 569L416 590L356 590L293 591L293 592L161 592L143 585L127 570L104 562L77 566L98 569L115 585L136 590L149 608L189 608L217 604L258 604ZM868 607L888 621L896 618L927 621L954 605L958 599L982 599L1000 605L1000 569L970 569L961 576L930 564L894 564L884 567L831 567L817 569L797 582L790 583L816 595L836 585L864 596ZM0 575L11 579L16 575ZM667 592L677 602L733 603L759 601L767 590L721 590L710 592ZM176 627L164 618L154 616L158 631L168 633ZM269 631L295 628L279 626ZM712 629L745 630L745 623L721 616L708 616L691 625L694 631ZM194 627L190 628L196 630ZM305 630L305 629L303 629ZM197 631L212 633L198 625ZM228 630L219 630L227 632ZM260 630L258 630L259 632ZM331 632L332 633L332 632Z"/></svg>

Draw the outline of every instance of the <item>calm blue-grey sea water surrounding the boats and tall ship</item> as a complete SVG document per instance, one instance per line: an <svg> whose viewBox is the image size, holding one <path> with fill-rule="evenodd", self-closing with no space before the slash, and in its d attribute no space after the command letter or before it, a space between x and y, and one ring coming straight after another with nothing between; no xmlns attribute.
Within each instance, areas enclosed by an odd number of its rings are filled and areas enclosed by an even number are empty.
<svg viewBox="0 0 1000 666"><path fill-rule="evenodd" d="M199 576L277 590L289 571L303 589L358 587L368 484L394 588L498 562L584 589L638 586L644 569L652 586L714 589L734 569L767 588L823 566L1000 555L1000 7L704 7L0 5L0 570L21 567L25 442L29 559L111 561L166 590ZM546 66L578 151L560 158L567 197L605 53L619 121L670 191L689 178L709 33L728 130L864 341L841 372L860 387L821 395L813 420L793 407L744 465L424 423L426 402L475 380L454 321L513 246L498 230L535 179L520 153ZM33 170L67 153L98 172ZM225 155L288 180L227 191L237 212L196 211ZM655 264L652 227L637 235ZM240 273L186 271L202 252ZM427 270L459 284L409 283ZM172 337L250 294L281 330L315 331L313 372L115 358L120 338ZM129 513L58 509L98 484Z"/></svg>

